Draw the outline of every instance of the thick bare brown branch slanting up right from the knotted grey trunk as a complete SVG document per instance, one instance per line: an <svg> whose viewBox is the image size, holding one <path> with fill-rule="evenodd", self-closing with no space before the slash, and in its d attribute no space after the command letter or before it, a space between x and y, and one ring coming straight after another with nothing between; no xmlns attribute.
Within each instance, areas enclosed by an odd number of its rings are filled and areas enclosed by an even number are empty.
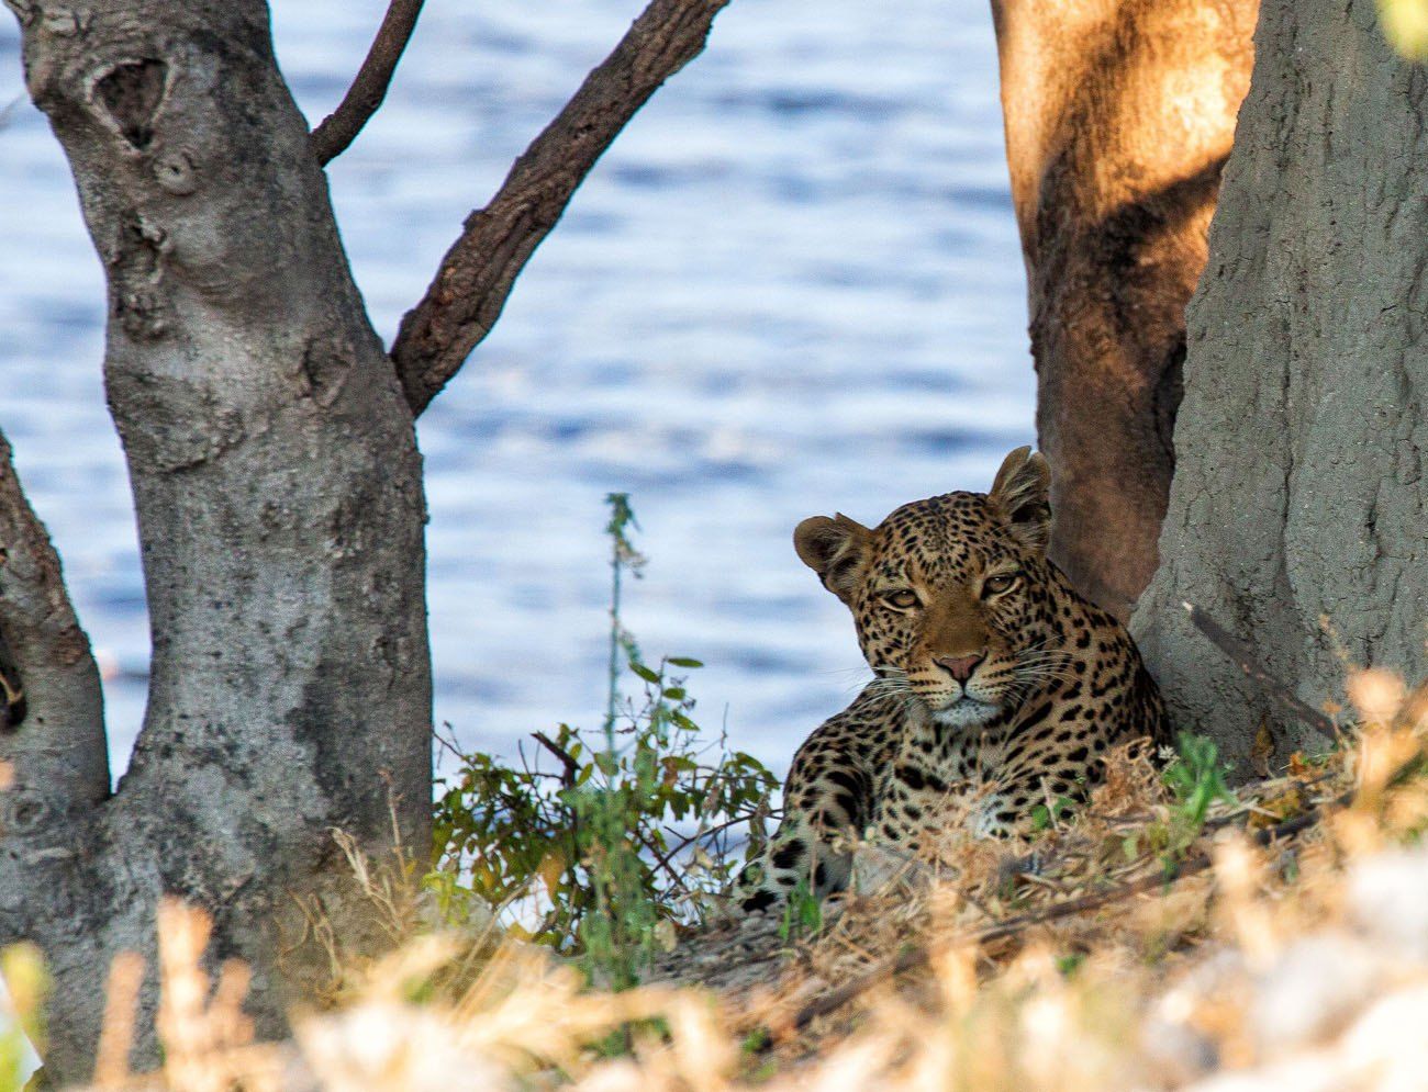
<svg viewBox="0 0 1428 1092"><path fill-rule="evenodd" d="M420 414L501 314L517 275L620 130L704 49L728 0L653 0L554 121L470 217L391 347Z"/></svg>

